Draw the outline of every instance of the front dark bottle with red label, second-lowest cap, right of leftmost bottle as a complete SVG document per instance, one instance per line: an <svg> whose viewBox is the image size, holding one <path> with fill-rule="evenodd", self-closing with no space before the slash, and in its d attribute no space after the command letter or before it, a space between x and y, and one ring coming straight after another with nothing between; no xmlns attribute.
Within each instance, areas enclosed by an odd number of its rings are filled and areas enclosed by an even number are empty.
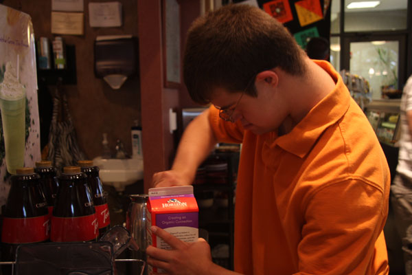
<svg viewBox="0 0 412 275"><path fill-rule="evenodd" d="M95 241L99 234L98 220L87 175L82 173L79 166L66 166L58 182L50 240Z"/></svg>

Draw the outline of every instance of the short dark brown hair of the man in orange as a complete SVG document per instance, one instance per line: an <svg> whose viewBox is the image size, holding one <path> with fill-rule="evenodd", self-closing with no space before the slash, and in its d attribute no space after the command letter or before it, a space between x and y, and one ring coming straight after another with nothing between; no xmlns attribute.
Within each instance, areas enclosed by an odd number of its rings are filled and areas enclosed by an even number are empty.
<svg viewBox="0 0 412 275"><path fill-rule="evenodd" d="M206 104L217 87L257 96L254 77L280 67L305 72L304 52L275 18L251 5L229 4L192 24L183 56L183 80L195 102Z"/></svg>

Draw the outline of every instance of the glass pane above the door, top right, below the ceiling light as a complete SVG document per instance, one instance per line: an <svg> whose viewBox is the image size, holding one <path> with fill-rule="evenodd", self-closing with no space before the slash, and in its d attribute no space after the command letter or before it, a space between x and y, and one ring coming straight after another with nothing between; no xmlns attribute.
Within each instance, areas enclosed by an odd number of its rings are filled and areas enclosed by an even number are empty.
<svg viewBox="0 0 412 275"><path fill-rule="evenodd" d="M407 29L407 0L380 0L375 8L347 8L358 1L345 0L345 32Z"/></svg>

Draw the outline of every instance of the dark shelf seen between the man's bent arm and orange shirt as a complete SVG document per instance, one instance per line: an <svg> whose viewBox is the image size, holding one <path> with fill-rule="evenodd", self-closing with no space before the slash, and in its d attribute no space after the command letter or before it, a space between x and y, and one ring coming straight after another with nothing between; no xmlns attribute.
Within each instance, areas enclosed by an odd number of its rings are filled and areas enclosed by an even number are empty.
<svg viewBox="0 0 412 275"><path fill-rule="evenodd" d="M199 228L206 230L212 259L233 270L233 233L239 151L215 151L198 168L194 195Z"/></svg>

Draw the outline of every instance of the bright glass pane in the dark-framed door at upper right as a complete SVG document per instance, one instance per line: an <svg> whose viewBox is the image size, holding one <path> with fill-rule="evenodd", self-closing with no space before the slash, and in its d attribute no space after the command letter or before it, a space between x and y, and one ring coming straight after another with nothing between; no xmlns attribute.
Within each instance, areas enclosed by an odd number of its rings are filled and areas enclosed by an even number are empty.
<svg viewBox="0 0 412 275"><path fill-rule="evenodd" d="M382 98L382 86L398 89L398 41L350 43L350 73L369 81L372 99Z"/></svg>

